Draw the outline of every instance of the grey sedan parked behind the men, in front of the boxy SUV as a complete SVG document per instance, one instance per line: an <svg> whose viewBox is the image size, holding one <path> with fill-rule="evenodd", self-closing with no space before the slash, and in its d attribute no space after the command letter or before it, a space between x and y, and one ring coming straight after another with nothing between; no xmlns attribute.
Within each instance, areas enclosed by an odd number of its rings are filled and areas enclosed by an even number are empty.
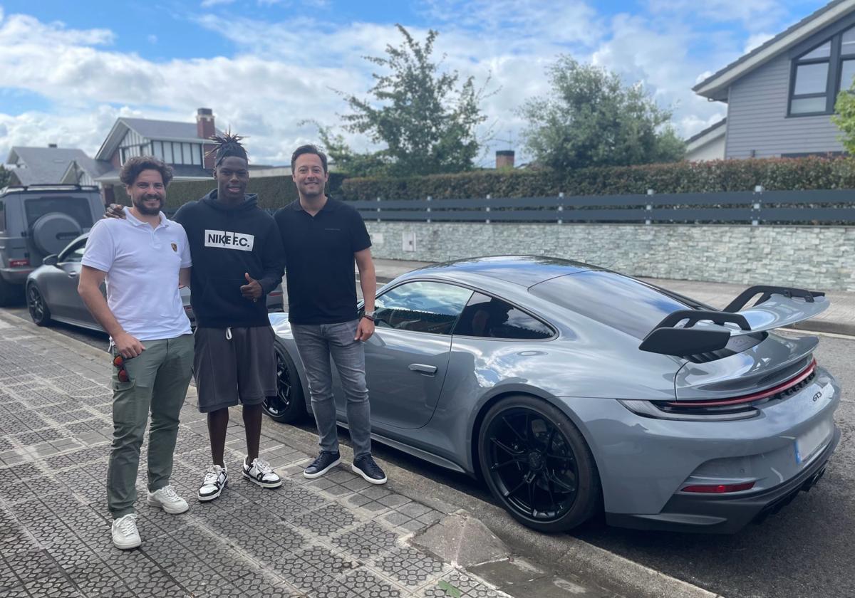
<svg viewBox="0 0 855 598"><path fill-rule="evenodd" d="M36 268L27 277L27 308L32 321L40 326L50 325L56 320L103 331L86 308L77 293L77 283L80 278L81 261L89 234L80 235L68 243L59 254L48 255L42 261L42 266ZM190 289L181 289L181 300L191 324L196 320L190 306ZM268 311L282 311L282 288L277 287L267 297Z"/></svg>

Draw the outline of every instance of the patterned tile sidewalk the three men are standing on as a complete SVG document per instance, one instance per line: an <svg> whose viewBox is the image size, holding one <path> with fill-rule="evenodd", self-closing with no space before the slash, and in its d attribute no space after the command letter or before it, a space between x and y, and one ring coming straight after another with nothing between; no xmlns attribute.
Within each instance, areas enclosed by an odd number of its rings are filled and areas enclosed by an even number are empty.
<svg viewBox="0 0 855 598"><path fill-rule="evenodd" d="M168 515L145 504L143 456L143 546L114 548L104 490L110 367L103 351L0 315L0 595L506 595L410 545L428 529L441 532L445 513L349 469L306 480L310 456L264 434L262 457L285 478L282 488L262 490L241 478L237 410L227 437L230 484L220 499L199 503L210 459L193 389L172 478L190 511ZM610 595L570 585L574 595Z"/></svg>

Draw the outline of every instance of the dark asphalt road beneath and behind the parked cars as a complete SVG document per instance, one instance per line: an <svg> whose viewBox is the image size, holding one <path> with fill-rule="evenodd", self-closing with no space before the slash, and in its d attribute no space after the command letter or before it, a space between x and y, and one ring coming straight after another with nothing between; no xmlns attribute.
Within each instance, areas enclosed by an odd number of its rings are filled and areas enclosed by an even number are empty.
<svg viewBox="0 0 855 598"><path fill-rule="evenodd" d="M29 319L26 308L6 310ZM56 325L56 331L100 349L106 336ZM842 438L825 477L781 513L734 536L621 530L595 520L575 536L600 548L728 598L855 596L855 339L822 337L817 361L840 380ZM301 426L311 430L311 425ZM346 434L342 433L343 437ZM346 442L346 439L343 438ZM375 445L383 460L441 484L491 500L480 483L394 449Z"/></svg>

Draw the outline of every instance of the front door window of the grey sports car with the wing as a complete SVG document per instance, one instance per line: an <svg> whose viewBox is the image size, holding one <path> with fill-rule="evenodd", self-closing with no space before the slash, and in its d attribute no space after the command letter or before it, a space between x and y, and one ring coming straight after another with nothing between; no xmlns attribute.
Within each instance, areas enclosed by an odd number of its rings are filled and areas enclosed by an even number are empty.
<svg viewBox="0 0 855 598"><path fill-rule="evenodd" d="M374 323L378 328L451 334L471 295L471 290L454 284L400 284L377 297Z"/></svg>

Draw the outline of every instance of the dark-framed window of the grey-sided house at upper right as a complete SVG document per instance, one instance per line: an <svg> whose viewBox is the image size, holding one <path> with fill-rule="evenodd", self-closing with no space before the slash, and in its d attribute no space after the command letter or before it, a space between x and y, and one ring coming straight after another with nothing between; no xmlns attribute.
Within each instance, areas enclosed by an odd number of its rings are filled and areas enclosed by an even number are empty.
<svg viewBox="0 0 855 598"><path fill-rule="evenodd" d="M793 60L789 114L831 114L840 90L855 79L855 27Z"/></svg>

